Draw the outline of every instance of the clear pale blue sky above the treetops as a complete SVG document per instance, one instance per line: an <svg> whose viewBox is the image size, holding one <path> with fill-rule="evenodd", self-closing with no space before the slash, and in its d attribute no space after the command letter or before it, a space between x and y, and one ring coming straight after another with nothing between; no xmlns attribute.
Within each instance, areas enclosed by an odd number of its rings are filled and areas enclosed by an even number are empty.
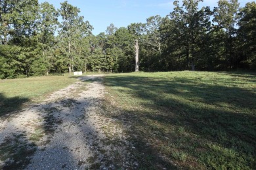
<svg viewBox="0 0 256 170"><path fill-rule="evenodd" d="M56 8L64 0L39 0L39 3L49 2ZM68 3L78 7L80 15L85 17L93 25L93 34L105 32L106 27L114 24L116 27L127 27L131 23L146 22L146 18L159 14L164 17L173 10L174 0L68 0ZM202 6L217 7L218 0L204 0ZM181 2L181 1L180 1ZM240 6L244 7L249 0L240 0ZM182 5L182 3L180 3Z"/></svg>

